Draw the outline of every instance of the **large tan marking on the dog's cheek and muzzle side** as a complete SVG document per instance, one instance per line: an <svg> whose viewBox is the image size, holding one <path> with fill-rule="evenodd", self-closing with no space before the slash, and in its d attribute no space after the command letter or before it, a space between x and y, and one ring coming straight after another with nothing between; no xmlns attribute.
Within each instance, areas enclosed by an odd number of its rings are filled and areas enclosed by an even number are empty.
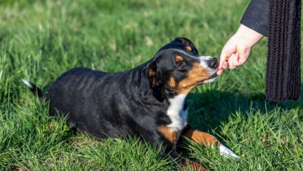
<svg viewBox="0 0 303 171"><path fill-rule="evenodd" d="M192 88L198 84L198 81L206 80L210 77L210 73L207 68L203 68L199 63L194 63L190 71L188 71L188 77L181 80L178 84L177 93L187 94Z"/></svg>

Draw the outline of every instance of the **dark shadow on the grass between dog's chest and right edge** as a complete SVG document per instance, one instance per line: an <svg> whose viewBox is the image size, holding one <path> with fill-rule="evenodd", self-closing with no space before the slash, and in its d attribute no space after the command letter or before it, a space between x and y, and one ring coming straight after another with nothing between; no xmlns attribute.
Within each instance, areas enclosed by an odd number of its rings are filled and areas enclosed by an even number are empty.
<svg viewBox="0 0 303 171"><path fill-rule="evenodd" d="M301 94L303 94L301 88ZM303 107L303 98L299 101L274 102L265 99L262 92L238 92L207 90L204 92L192 91L187 96L189 105L188 123L196 129L210 132L218 128L222 123L236 112L244 113L247 118L249 113L266 111L279 108L290 110Z"/></svg>

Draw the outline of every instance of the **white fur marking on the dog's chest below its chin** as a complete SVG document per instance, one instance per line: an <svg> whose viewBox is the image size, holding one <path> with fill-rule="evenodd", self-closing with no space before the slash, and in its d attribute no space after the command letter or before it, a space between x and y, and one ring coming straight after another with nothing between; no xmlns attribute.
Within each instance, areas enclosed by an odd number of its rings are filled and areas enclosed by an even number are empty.
<svg viewBox="0 0 303 171"><path fill-rule="evenodd" d="M188 109L183 110L186 94L179 94L174 98L169 99L170 105L167 109L167 115L172 123L168 125L170 131L180 131L187 123Z"/></svg>

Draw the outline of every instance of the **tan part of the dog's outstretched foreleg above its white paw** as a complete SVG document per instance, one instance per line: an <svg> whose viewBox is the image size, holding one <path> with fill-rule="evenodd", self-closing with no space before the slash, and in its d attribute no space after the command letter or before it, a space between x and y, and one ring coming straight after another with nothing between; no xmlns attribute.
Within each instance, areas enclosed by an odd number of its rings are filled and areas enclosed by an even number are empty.
<svg viewBox="0 0 303 171"><path fill-rule="evenodd" d="M198 130L190 129L186 131L183 134L183 136L189 138L194 142L205 144L205 145L214 145L215 143L217 144L217 146L220 145L220 142L215 136Z"/></svg>

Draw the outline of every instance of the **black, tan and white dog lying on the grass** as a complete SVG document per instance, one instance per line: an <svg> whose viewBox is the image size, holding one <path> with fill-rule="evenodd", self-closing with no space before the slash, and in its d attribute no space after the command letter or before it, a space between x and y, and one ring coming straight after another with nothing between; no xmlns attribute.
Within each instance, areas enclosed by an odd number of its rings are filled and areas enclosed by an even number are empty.
<svg viewBox="0 0 303 171"><path fill-rule="evenodd" d="M178 37L150 61L128 71L73 68L62 74L47 94L29 81L23 82L40 99L49 100L50 116L63 113L68 124L80 132L99 139L141 137L156 143L184 169L187 161L193 169L207 170L180 156L176 143L187 137L239 158L216 137L187 123L186 95L198 85L215 81L218 65L216 58L198 55L189 39Z"/></svg>

